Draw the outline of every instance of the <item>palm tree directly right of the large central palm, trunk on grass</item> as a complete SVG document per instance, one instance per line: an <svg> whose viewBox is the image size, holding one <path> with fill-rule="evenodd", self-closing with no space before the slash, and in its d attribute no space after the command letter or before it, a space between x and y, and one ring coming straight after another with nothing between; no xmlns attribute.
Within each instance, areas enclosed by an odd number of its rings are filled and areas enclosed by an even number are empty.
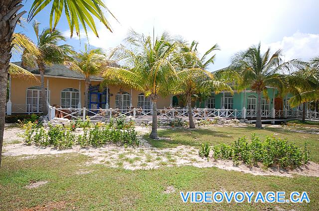
<svg viewBox="0 0 319 211"><path fill-rule="evenodd" d="M176 92L183 93L186 96L189 128L195 128L191 98L200 95L204 91L203 87L207 88L207 85L209 85L210 91L215 88L232 92L232 89L227 84L214 80L214 76L206 71L208 65L214 63L215 54L211 55L207 61L206 57L214 50L219 50L218 45L215 44L211 47L201 58L199 58L197 52L197 45L198 42L196 41L192 41L190 44L183 44L181 50L175 53L175 60L179 68L177 71L178 80L176 82L178 89L176 89Z"/></svg>

